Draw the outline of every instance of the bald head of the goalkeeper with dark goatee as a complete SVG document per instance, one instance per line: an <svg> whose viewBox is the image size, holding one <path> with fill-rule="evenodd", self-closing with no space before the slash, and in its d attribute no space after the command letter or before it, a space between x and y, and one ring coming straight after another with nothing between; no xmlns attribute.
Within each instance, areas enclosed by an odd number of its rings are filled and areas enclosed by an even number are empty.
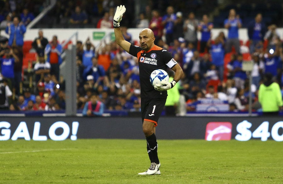
<svg viewBox="0 0 283 184"><path fill-rule="evenodd" d="M154 46L155 37L151 29L142 29L139 35L139 39L142 49L145 51L150 50Z"/></svg>

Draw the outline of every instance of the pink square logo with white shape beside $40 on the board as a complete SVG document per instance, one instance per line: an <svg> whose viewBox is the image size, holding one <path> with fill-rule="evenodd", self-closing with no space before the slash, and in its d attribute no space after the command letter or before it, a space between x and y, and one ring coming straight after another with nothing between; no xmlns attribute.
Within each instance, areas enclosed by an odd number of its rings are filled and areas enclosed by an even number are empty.
<svg viewBox="0 0 283 184"><path fill-rule="evenodd" d="M206 125L205 140L231 140L230 122L209 122Z"/></svg>

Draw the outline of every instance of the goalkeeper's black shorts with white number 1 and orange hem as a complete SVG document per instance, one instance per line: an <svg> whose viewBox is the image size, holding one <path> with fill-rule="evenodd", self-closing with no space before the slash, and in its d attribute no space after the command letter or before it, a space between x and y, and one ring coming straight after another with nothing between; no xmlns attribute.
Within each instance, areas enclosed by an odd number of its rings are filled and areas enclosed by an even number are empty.
<svg viewBox="0 0 283 184"><path fill-rule="evenodd" d="M153 122L155 127L164 109L166 98L141 99L142 122Z"/></svg>

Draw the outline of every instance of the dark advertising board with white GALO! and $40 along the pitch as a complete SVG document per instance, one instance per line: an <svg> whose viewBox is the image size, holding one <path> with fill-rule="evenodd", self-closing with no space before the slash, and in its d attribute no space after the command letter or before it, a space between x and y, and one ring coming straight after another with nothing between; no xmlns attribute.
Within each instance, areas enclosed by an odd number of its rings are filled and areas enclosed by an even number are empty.
<svg viewBox="0 0 283 184"><path fill-rule="evenodd" d="M158 139L283 141L280 117L161 117ZM137 117L2 117L0 140L144 139Z"/></svg>

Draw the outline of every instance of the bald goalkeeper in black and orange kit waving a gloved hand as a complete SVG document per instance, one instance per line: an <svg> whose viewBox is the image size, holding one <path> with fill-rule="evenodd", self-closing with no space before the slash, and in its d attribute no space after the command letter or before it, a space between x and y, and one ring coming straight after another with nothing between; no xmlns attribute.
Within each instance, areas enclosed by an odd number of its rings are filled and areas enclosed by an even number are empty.
<svg viewBox="0 0 283 184"><path fill-rule="evenodd" d="M113 27L116 42L126 52L138 58L141 82L142 130L147 140L147 153L151 162L149 169L139 175L160 174L160 162L157 155L157 139L155 127L167 98L167 90L175 86L183 75L180 65L173 59L170 52L154 45L154 34L151 29L143 29L139 34L140 45L127 42L120 30L120 21L125 13L125 6L118 6L114 15ZM161 85L152 86L149 80L152 71L171 68L175 71L173 81L161 81Z"/></svg>

